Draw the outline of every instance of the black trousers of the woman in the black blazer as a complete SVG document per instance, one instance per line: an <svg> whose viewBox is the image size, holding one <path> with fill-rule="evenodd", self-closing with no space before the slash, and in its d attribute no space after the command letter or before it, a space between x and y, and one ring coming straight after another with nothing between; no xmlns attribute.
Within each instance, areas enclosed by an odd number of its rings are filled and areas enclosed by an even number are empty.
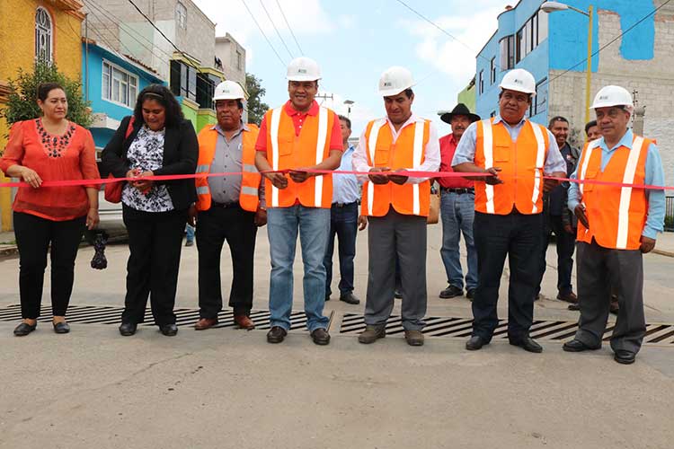
<svg viewBox="0 0 674 449"><path fill-rule="evenodd" d="M121 321L145 321L149 295L155 324L174 323L173 305L187 210L143 212L125 205L122 215L129 231L131 253Z"/></svg>

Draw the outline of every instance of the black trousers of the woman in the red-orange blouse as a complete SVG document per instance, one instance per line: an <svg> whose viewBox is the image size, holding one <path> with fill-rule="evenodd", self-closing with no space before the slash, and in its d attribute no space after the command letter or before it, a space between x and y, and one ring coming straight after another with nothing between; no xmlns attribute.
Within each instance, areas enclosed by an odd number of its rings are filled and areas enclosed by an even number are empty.
<svg viewBox="0 0 674 449"><path fill-rule="evenodd" d="M40 316L44 270L51 243L51 313L65 316L73 292L75 258L86 216L57 222L14 212L14 235L19 249L19 295L23 318Z"/></svg>

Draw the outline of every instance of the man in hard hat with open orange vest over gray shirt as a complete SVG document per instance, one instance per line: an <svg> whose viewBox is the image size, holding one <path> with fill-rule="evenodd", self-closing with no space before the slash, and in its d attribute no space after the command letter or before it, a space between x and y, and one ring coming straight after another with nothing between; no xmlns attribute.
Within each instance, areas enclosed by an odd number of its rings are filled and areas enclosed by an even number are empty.
<svg viewBox="0 0 674 449"><path fill-rule="evenodd" d="M244 89L234 81L217 85L217 124L199 133L197 173L237 172L239 175L197 178L197 203L190 208L190 221L197 222L199 251L199 309L196 330L217 324L222 310L220 255L225 242L232 255L234 278L229 306L242 329L255 327L253 308L253 260L258 226L267 223L262 176L254 165L258 128L245 125Z"/></svg>

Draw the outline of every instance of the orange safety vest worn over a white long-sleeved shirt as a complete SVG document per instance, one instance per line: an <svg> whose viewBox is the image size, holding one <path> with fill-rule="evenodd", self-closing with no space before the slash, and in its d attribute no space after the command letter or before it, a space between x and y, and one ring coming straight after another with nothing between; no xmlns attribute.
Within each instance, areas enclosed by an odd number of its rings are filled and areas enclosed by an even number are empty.
<svg viewBox="0 0 674 449"><path fill-rule="evenodd" d="M417 167L426 158L424 149L429 137L430 120L418 119L405 126L395 142L386 119L372 120L365 129L368 165L392 170ZM361 205L364 216L386 216L391 206L406 216L429 216L430 180L403 185L368 180L363 184Z"/></svg>

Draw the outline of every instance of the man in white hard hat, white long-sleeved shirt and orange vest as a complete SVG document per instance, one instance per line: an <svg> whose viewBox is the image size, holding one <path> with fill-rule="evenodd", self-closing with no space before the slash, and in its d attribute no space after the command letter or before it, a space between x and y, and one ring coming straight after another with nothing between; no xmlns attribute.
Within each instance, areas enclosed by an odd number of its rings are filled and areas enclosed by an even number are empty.
<svg viewBox="0 0 674 449"><path fill-rule="evenodd" d="M361 200L361 214L368 216L370 226L366 330L359 335L365 344L386 336L397 258L405 339L411 346L423 345L431 177L409 177L405 172L437 172L440 151L433 124L412 113L413 85L412 73L404 67L390 67L381 75L379 94L386 117L368 123L353 154L353 169L370 173Z"/></svg>

